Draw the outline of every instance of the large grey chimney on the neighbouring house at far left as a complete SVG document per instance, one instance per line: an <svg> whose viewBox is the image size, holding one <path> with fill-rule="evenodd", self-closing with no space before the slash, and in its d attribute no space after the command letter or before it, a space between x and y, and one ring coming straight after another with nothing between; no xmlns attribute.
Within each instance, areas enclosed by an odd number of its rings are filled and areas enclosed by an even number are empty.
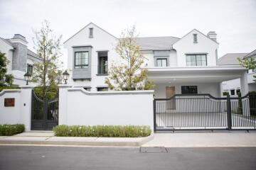
<svg viewBox="0 0 256 170"><path fill-rule="evenodd" d="M12 58L12 69L26 72L26 60L28 55L28 42L23 35L14 34L14 38L10 39L14 46L14 53Z"/></svg>

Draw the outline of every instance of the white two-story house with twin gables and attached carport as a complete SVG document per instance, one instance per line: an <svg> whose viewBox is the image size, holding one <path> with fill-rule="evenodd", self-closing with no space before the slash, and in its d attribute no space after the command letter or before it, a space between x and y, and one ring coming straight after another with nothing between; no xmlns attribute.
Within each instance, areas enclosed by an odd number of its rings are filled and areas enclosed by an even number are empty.
<svg viewBox="0 0 256 170"><path fill-rule="evenodd" d="M64 42L68 50L68 84L89 91L107 90L107 67L119 60L114 51L118 38L94 23L89 23ZM221 94L221 82L240 78L242 94L247 94L247 69L236 66L218 66L216 33L208 35L194 29L182 38L137 38L137 44L146 57L156 98L174 94Z"/></svg>

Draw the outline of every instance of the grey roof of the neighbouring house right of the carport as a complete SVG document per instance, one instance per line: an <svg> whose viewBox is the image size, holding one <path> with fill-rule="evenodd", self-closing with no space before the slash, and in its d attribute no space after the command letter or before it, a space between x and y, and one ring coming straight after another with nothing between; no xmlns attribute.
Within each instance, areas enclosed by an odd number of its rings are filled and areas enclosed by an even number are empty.
<svg viewBox="0 0 256 170"><path fill-rule="evenodd" d="M242 59L248 53L227 53L220 57L217 61L217 65L240 65L238 58Z"/></svg>

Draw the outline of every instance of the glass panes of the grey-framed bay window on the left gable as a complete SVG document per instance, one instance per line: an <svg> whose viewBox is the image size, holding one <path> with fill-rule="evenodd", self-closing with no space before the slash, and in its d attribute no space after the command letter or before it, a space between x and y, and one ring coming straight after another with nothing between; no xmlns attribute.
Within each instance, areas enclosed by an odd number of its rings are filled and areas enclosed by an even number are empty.
<svg viewBox="0 0 256 170"><path fill-rule="evenodd" d="M75 69L86 69L89 65L89 52L75 52Z"/></svg>

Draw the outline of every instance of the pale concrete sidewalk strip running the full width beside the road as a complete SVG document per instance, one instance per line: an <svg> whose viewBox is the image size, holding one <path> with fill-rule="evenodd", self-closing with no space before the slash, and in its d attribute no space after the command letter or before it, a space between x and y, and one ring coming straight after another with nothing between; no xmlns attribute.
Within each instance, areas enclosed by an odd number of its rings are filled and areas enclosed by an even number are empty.
<svg viewBox="0 0 256 170"><path fill-rule="evenodd" d="M0 145L85 145L110 147L256 147L256 132L175 132L149 137L55 137L53 132L0 136Z"/></svg>

